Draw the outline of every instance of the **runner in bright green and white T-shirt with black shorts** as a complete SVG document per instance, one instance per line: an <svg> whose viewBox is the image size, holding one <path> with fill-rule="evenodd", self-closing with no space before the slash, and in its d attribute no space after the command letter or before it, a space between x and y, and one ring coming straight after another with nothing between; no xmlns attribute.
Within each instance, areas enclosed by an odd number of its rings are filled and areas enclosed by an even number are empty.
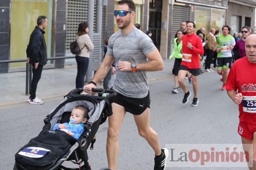
<svg viewBox="0 0 256 170"><path fill-rule="evenodd" d="M228 68L232 61L231 50L236 45L236 41L232 35L230 35L231 28L228 25L222 27L222 34L216 38L216 49L217 55L217 73L222 75L222 90L226 90L226 81L228 77Z"/></svg>

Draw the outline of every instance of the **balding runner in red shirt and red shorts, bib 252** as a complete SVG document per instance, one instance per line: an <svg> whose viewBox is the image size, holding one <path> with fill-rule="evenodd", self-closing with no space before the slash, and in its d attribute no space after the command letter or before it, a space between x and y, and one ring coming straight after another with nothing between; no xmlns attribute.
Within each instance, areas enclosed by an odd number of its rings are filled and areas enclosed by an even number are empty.
<svg viewBox="0 0 256 170"><path fill-rule="evenodd" d="M242 143L254 145L253 149L244 145L244 151L256 155L256 34L246 37L245 52L246 57L233 63L226 90L234 103L239 104L238 133Z"/></svg>

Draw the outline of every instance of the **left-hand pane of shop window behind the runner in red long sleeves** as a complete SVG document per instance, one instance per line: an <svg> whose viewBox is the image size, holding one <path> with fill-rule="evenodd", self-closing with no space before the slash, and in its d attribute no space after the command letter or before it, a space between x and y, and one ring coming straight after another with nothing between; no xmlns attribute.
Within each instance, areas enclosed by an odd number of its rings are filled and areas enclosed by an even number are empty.
<svg viewBox="0 0 256 170"><path fill-rule="evenodd" d="M210 8L202 8L196 6L195 9L195 24L196 30L199 30L201 27L205 27L205 30L210 30L211 23L211 9Z"/></svg>

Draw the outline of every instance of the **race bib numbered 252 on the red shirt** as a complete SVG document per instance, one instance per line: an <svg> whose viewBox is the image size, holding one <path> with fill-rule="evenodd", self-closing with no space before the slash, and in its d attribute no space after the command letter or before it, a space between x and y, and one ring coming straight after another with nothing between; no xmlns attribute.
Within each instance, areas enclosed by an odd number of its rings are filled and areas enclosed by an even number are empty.
<svg viewBox="0 0 256 170"><path fill-rule="evenodd" d="M243 111L248 113L256 113L256 96L243 96Z"/></svg>

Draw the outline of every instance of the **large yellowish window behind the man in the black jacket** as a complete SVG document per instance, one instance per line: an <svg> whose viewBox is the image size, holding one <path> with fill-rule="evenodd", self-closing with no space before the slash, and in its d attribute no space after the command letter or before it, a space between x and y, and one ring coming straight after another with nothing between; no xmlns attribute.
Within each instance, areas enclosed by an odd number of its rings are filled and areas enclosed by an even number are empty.
<svg viewBox="0 0 256 170"><path fill-rule="evenodd" d="M47 57L51 57L53 0L12 0L11 5L10 59L26 59L30 34L35 29L40 15L45 15L48 20L44 36ZM25 66L25 62L10 63L10 68Z"/></svg>

